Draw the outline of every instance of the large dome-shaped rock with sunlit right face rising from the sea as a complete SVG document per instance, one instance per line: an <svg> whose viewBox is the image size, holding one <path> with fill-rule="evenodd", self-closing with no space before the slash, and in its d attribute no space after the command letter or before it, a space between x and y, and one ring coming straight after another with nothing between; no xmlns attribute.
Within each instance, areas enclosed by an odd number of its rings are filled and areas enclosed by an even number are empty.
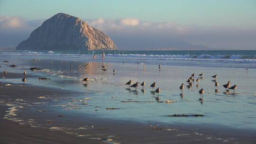
<svg viewBox="0 0 256 144"><path fill-rule="evenodd" d="M17 50L117 50L102 31L80 18L58 13L35 29Z"/></svg>

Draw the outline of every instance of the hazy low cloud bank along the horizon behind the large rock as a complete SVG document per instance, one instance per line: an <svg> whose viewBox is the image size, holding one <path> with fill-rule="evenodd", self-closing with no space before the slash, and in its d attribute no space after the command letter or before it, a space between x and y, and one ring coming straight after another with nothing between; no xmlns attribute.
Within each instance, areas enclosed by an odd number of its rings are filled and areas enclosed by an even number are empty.
<svg viewBox="0 0 256 144"><path fill-rule="evenodd" d="M44 19L0 16L0 46L16 46L26 40ZM150 22L137 18L86 19L105 32L121 50L143 50L184 46L186 42L213 48L256 49L256 29L198 27L175 22Z"/></svg>

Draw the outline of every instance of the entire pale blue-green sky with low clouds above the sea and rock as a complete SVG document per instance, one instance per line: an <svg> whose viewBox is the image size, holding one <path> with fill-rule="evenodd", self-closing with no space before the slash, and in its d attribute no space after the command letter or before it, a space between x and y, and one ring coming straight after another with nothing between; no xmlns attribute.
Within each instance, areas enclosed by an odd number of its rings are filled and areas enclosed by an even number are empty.
<svg viewBox="0 0 256 144"><path fill-rule="evenodd" d="M104 31L121 50L188 42L256 50L256 0L0 0L0 46L15 46L59 12Z"/></svg>

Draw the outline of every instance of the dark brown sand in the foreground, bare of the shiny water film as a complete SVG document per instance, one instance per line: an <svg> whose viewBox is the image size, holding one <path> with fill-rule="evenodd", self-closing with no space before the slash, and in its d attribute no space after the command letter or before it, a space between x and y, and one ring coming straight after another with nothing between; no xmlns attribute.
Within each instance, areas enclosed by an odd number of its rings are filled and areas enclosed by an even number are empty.
<svg viewBox="0 0 256 144"><path fill-rule="evenodd" d="M1 72L0 77L3 77ZM9 78L20 78L19 74L9 73ZM32 76L31 76L32 77ZM58 90L28 84L0 83L0 114L5 117L6 103L40 102L39 96L64 97L73 91ZM24 106L25 107L25 106ZM33 108L33 105L30 106ZM136 123L118 121L93 115L79 116L75 113L49 111L38 113L35 110L20 109L17 117L33 119L35 123L14 122L0 118L1 144L254 144L254 131L234 130L222 126L166 125L162 123ZM23 123L23 124L21 124ZM111 143L110 143L111 144Z"/></svg>

